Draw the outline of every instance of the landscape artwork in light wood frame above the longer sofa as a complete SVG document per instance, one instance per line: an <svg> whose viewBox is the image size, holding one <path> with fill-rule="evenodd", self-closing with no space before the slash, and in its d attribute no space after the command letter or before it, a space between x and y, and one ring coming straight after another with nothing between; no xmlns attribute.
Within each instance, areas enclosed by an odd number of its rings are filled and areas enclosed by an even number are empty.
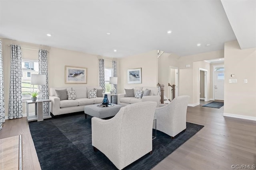
<svg viewBox="0 0 256 170"><path fill-rule="evenodd" d="M65 66L65 84L87 84L87 68Z"/></svg>

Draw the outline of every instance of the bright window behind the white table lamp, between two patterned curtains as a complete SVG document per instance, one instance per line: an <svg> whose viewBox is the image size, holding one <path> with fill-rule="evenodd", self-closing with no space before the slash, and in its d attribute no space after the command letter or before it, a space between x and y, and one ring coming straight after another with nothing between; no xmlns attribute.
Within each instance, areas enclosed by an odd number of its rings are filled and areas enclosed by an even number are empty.
<svg viewBox="0 0 256 170"><path fill-rule="evenodd" d="M31 85L31 74L38 74L38 61L22 60L22 99L29 99L28 92L38 91L37 85Z"/></svg>

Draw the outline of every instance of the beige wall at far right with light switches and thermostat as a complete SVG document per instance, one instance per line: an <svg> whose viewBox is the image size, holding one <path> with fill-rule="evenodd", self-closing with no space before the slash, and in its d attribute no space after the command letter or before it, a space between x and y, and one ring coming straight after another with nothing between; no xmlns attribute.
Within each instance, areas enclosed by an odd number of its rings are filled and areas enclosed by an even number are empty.
<svg viewBox="0 0 256 170"><path fill-rule="evenodd" d="M237 41L226 42L224 66L224 115L256 120L256 48L241 50Z"/></svg>

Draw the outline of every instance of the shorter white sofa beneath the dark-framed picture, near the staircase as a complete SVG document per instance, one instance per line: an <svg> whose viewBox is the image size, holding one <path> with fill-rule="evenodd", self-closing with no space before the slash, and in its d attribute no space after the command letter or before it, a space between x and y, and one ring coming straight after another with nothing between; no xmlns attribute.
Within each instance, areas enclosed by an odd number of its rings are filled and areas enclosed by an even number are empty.
<svg viewBox="0 0 256 170"><path fill-rule="evenodd" d="M125 88L125 89L134 89L134 94L137 90L150 90L149 96L142 96L142 98L135 98L135 97L125 97L125 93L118 94L117 95L117 104L126 106L129 104L139 103L139 102L156 102L157 106L159 106L160 103L160 92L157 87L132 87L132 88Z"/></svg>

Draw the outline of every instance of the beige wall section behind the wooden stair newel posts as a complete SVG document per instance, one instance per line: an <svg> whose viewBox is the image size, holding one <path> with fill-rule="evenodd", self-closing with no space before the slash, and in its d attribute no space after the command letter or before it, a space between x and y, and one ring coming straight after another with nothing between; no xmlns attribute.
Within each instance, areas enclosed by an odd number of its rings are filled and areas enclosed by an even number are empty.
<svg viewBox="0 0 256 170"><path fill-rule="evenodd" d="M164 96L170 99L168 83L170 82L170 66L178 67L178 55L164 53L158 59L158 83L164 84Z"/></svg>

